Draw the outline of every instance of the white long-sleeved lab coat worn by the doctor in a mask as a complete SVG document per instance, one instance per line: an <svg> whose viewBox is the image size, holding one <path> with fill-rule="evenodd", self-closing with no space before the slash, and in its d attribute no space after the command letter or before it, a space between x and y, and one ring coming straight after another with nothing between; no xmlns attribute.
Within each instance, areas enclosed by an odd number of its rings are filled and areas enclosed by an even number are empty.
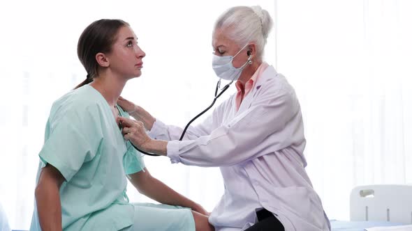
<svg viewBox="0 0 412 231"><path fill-rule="evenodd" d="M156 120L149 136L168 140L172 163L219 166L224 194L209 222L216 230L244 230L256 210L272 212L285 230L330 230L321 199L304 170L305 138L295 90L269 66L236 111L235 95L211 116L182 128Z"/></svg>

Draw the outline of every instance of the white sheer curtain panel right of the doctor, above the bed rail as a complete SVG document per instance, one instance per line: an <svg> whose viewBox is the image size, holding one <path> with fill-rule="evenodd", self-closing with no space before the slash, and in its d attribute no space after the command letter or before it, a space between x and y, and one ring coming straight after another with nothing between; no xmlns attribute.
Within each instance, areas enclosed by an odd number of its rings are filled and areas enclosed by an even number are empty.
<svg viewBox="0 0 412 231"><path fill-rule="evenodd" d="M277 69L295 86L307 172L330 218L364 184L412 183L412 1L276 5Z"/></svg>

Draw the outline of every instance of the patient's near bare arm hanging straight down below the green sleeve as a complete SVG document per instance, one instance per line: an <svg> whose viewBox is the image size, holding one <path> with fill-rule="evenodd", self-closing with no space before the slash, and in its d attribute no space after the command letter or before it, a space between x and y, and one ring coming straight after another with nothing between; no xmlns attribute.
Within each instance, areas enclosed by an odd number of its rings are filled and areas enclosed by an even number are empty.
<svg viewBox="0 0 412 231"><path fill-rule="evenodd" d="M64 177L57 168L50 164L42 168L35 197L38 219L44 231L62 229L59 189L63 182Z"/></svg>

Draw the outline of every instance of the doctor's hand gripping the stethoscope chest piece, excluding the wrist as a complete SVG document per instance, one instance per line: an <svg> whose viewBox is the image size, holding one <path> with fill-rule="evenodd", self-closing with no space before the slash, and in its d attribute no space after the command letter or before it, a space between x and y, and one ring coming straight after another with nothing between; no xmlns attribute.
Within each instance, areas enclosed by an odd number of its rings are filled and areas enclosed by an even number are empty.
<svg viewBox="0 0 412 231"><path fill-rule="evenodd" d="M117 118L119 124L122 126L122 134L126 141L130 141L141 150L145 150L147 144L152 141L152 139L147 136L145 126L143 122L131 120L124 117Z"/></svg>

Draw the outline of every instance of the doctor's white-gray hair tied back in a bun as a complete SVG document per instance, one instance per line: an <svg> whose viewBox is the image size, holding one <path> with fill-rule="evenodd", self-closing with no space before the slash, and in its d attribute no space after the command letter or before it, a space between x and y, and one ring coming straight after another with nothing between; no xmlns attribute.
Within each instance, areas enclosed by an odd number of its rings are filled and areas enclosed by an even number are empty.
<svg viewBox="0 0 412 231"><path fill-rule="evenodd" d="M272 24L272 17L260 6L235 6L219 16L213 33L221 29L241 47L247 42L255 42L256 56L261 60Z"/></svg>

